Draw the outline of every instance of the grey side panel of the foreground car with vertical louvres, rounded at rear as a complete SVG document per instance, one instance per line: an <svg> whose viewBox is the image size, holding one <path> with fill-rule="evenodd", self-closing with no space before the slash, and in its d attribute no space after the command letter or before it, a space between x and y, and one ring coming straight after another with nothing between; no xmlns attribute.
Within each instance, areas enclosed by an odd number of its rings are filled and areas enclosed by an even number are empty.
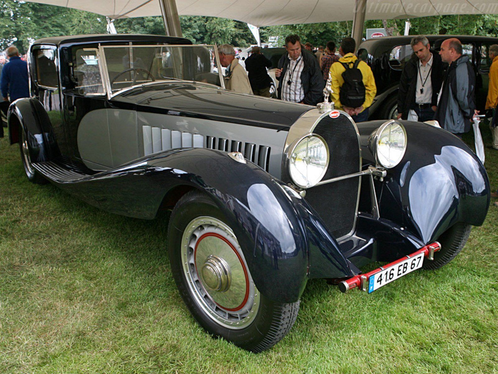
<svg viewBox="0 0 498 374"><path fill-rule="evenodd" d="M172 148L202 145L204 148L227 152L239 150L243 154L246 149L250 149L252 157L245 154L249 160L280 178L287 134L287 131L268 128L256 130L254 126L209 119L129 109L98 109L86 114L81 120L78 149L84 164L95 171L116 168ZM264 147L270 148L268 162L262 159L266 151Z"/></svg>

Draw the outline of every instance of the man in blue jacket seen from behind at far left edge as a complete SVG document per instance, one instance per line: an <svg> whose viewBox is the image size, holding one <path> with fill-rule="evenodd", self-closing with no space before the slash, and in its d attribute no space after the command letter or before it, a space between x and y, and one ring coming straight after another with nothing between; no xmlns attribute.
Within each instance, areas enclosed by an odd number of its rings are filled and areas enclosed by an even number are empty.
<svg viewBox="0 0 498 374"><path fill-rule="evenodd" d="M7 48L8 62L3 66L0 78L0 90L4 101L29 97L28 66L22 61L16 47Z"/></svg>

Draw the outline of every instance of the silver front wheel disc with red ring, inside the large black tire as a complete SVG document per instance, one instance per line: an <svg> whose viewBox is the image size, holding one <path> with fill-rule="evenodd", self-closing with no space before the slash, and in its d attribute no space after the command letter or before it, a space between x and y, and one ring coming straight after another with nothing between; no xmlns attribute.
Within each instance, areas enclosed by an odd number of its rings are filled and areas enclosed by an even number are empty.
<svg viewBox="0 0 498 374"><path fill-rule="evenodd" d="M260 295L229 226L210 216L190 221L181 259L193 299L211 319L229 329L253 322Z"/></svg>

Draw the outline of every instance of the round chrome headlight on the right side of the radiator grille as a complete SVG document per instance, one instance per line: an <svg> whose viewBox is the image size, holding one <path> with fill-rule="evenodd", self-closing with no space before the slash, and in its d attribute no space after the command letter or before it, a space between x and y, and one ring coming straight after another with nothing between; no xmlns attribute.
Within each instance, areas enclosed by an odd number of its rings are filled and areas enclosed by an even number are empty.
<svg viewBox="0 0 498 374"><path fill-rule="evenodd" d="M394 120L384 122L370 136L369 148L378 165L394 168L406 151L405 128Z"/></svg>

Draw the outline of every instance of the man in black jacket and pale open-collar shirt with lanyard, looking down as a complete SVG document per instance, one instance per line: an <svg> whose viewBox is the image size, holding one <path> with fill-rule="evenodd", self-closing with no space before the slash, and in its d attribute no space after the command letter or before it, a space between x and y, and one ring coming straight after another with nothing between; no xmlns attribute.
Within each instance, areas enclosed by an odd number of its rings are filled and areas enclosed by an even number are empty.
<svg viewBox="0 0 498 374"><path fill-rule="evenodd" d="M399 81L398 119L417 120L418 117L420 122L430 121L436 111L444 65L441 56L430 49L425 36L415 36L410 45L413 55L406 62Z"/></svg>

